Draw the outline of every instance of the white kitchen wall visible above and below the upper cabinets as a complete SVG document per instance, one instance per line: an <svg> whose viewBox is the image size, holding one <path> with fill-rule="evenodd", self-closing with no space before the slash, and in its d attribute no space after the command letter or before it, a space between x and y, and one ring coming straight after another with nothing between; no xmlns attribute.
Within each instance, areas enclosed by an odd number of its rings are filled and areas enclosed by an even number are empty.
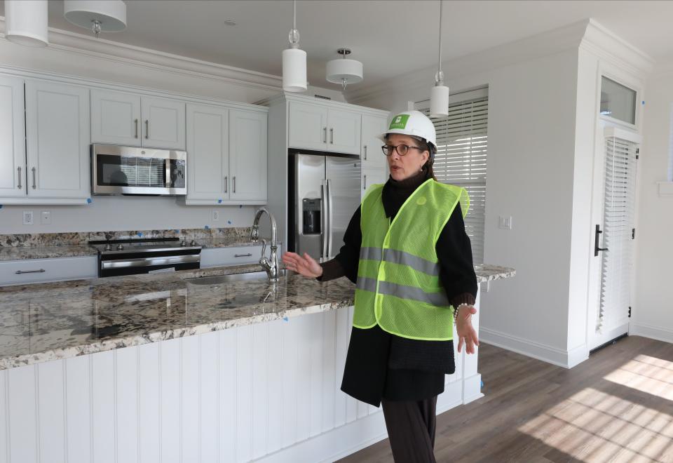
<svg viewBox="0 0 673 463"><path fill-rule="evenodd" d="M0 30L4 30L2 18ZM50 45L46 48L19 46L0 35L0 65L246 103L269 98L280 91L279 76L54 29L50 30ZM306 95L316 93L344 101L341 92L315 86L309 87ZM0 234L252 225L254 206L219 206L218 209L220 219L213 222L210 207L180 206L170 198L94 196L88 206L4 206L0 208ZM24 210L34 211L34 225L22 224ZM42 210L52 212L52 224L39 223L38 214Z"/></svg>

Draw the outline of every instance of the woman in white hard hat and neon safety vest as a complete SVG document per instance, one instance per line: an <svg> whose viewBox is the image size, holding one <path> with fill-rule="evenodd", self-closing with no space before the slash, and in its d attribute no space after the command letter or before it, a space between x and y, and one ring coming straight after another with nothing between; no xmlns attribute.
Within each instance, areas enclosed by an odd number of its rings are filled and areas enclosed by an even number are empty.
<svg viewBox="0 0 673 463"><path fill-rule="evenodd" d="M369 187L333 260L285 253L285 265L327 281L357 283L341 390L383 406L396 462L435 462L437 395L458 351L479 345L477 295L463 217L465 189L437 182L435 126L421 112L393 117L381 135L390 178ZM461 207L462 206L462 207ZM451 311L449 304L455 309Z"/></svg>

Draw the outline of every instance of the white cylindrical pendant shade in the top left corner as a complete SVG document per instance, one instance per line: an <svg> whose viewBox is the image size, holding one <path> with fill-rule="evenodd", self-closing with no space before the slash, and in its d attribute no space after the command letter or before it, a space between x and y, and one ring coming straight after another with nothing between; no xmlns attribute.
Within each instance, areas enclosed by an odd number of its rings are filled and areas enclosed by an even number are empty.
<svg viewBox="0 0 673 463"><path fill-rule="evenodd" d="M5 36L27 46L47 46L47 0L5 0Z"/></svg>

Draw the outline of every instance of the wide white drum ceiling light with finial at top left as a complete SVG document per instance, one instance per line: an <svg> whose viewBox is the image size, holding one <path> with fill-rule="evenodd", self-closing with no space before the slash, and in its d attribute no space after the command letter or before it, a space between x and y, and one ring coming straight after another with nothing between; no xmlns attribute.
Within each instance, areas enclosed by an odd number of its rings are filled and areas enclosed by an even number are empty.
<svg viewBox="0 0 673 463"><path fill-rule="evenodd" d="M101 32L126 29L126 4L122 0L65 0L63 15L72 24Z"/></svg>

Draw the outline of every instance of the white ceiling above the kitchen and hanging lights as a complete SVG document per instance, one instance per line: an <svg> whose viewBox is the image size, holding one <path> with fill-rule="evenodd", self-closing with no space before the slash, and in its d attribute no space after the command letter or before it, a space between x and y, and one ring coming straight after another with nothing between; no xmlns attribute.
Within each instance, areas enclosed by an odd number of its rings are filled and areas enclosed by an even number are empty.
<svg viewBox="0 0 673 463"><path fill-rule="evenodd" d="M280 75L280 53L292 27L292 1L126 0L128 27L104 39ZM0 4L0 13L2 13ZM673 1L444 1L443 58L450 60L594 18L655 60L673 59ZM299 0L300 48L311 85L325 81L325 63L341 46L365 65L365 81L437 62L439 3L400 0ZM236 20L235 26L224 20ZM86 34L49 2L49 25ZM430 79L432 77L430 76Z"/></svg>

